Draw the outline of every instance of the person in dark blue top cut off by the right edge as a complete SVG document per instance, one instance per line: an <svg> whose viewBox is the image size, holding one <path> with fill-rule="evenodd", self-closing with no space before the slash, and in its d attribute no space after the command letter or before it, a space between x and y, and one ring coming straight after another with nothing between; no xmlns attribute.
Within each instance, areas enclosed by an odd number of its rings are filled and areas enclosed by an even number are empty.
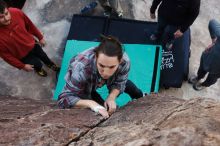
<svg viewBox="0 0 220 146"><path fill-rule="evenodd" d="M220 23L215 19L209 21L209 32L212 44L202 53L197 75L188 80L197 91L215 84L220 78ZM208 76L205 81L200 82L207 73Z"/></svg>

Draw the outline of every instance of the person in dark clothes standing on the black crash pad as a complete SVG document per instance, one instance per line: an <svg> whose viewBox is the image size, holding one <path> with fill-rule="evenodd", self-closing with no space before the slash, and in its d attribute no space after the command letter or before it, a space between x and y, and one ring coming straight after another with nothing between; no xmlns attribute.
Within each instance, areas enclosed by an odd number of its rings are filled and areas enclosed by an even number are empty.
<svg viewBox="0 0 220 146"><path fill-rule="evenodd" d="M168 29L166 48L171 49L176 38L179 38L193 24L199 14L200 0L153 0L150 17L156 18L158 8L157 30L150 36L157 41Z"/></svg>

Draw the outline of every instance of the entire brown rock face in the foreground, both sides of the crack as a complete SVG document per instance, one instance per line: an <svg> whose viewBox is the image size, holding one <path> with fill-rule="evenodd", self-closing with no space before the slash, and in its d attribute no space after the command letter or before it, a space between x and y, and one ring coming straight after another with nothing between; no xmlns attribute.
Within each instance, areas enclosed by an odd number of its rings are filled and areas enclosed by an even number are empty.
<svg viewBox="0 0 220 146"><path fill-rule="evenodd" d="M0 145L218 146L220 103L146 96L108 120L89 109L57 109L49 101L0 98Z"/></svg>

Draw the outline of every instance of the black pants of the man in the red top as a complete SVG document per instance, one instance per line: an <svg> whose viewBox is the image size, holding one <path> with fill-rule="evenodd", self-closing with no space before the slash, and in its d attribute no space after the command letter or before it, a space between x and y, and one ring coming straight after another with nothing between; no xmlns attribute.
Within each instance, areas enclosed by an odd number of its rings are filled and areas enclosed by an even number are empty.
<svg viewBox="0 0 220 146"><path fill-rule="evenodd" d="M43 66L41 61L46 65L54 64L38 44L35 44L34 48L24 58L21 59L21 62L24 64L34 65L34 69L36 71L41 70Z"/></svg>

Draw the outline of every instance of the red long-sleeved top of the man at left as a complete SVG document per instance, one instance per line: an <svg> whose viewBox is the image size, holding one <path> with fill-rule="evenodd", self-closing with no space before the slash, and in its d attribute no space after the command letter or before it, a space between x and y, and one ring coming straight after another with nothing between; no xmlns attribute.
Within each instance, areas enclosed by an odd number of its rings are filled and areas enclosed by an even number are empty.
<svg viewBox="0 0 220 146"><path fill-rule="evenodd" d="M12 66L22 69L24 63L20 59L34 48L34 36L41 40L43 35L21 10L16 8L8 10L11 14L11 23L0 26L0 57Z"/></svg>

